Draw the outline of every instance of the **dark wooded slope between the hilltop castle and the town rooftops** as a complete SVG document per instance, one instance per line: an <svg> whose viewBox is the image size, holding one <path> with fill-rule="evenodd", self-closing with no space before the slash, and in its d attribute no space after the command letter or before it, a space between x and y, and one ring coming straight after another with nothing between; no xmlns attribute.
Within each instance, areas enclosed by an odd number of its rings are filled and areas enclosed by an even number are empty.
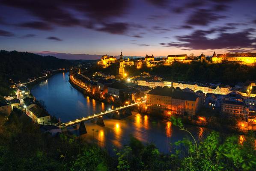
<svg viewBox="0 0 256 171"><path fill-rule="evenodd" d="M102 71L105 74L118 74L119 64L111 64L108 68L102 68L94 65L88 72L92 74L96 71ZM256 65L243 65L237 62L223 62L220 64L211 64L206 62L173 62L172 65L158 65L147 68L143 65L137 69L136 65L125 66L125 73L128 76L139 75L142 72L160 76L165 80L173 81L195 81L195 82L221 82L223 84L235 85L238 82L247 80L256 80Z"/></svg>

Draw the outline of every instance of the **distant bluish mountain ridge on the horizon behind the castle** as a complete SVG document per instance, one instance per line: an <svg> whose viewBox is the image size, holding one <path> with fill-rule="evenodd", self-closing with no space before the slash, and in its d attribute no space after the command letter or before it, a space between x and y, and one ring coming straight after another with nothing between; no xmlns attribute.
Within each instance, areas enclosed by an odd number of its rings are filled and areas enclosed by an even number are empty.
<svg viewBox="0 0 256 171"><path fill-rule="evenodd" d="M56 56L60 59L83 59L83 60L97 60L101 59L102 55L89 55L89 54L71 54L71 53L57 53L57 52L50 52L50 51L43 51L43 52L32 52L36 53L42 56ZM115 56L117 59L119 59L119 55ZM124 58L141 58L144 56L124 56Z"/></svg>

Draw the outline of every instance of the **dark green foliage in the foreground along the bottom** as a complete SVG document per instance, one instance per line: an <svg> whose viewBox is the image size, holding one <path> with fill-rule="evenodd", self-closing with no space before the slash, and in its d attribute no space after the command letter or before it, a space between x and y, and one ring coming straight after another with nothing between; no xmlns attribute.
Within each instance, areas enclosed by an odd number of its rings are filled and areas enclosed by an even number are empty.
<svg viewBox="0 0 256 171"><path fill-rule="evenodd" d="M179 119L171 121L188 132ZM0 171L252 171L255 139L247 136L243 145L238 140L211 132L198 142L191 134L163 154L154 144L143 145L131 137L130 144L109 156L95 144L68 134L42 134L39 127L14 117L0 123Z"/></svg>

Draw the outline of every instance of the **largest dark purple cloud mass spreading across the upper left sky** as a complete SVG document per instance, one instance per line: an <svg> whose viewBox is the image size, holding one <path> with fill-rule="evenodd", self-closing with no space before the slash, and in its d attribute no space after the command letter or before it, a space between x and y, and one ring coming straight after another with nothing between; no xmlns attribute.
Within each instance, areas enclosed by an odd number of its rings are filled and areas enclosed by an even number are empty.
<svg viewBox="0 0 256 171"><path fill-rule="evenodd" d="M110 28L113 26L113 23L109 22L109 19L112 17L124 15L126 8L130 4L130 1L45 0L38 1L37 4L34 5L34 0L1 0L1 3L6 6L24 9L33 17L39 18L41 20L21 23L18 24L19 27L51 30L53 29L53 25L59 25L64 27L81 26L88 29L98 30L98 27L95 27L95 25L103 25L104 27L99 29L100 31L116 34L118 31ZM74 15L71 13L71 11L82 13L82 17L77 18L77 15ZM124 29L124 26L121 29Z"/></svg>

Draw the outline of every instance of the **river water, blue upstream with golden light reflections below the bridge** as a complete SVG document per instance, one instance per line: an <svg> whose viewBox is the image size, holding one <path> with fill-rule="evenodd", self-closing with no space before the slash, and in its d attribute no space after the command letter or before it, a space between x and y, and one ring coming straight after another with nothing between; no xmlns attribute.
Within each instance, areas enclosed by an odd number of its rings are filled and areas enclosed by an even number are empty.
<svg viewBox="0 0 256 171"><path fill-rule="evenodd" d="M68 82L68 73L56 74L48 80L35 85L31 92L37 100L42 101L47 111L67 122L77 118L86 117L93 113L105 111L110 105L98 102L83 96ZM97 143L106 148L110 153L113 148L121 148L129 143L130 136L139 139L143 144L154 143L163 153L170 151L170 143L182 140L188 136L178 127L173 126L170 121L162 121L148 115L133 112L122 120L103 117L105 127L98 126L90 121L85 122L87 134L82 138L86 142ZM205 128L186 126L197 139L205 136ZM74 134L79 135L74 127L68 128Z"/></svg>

